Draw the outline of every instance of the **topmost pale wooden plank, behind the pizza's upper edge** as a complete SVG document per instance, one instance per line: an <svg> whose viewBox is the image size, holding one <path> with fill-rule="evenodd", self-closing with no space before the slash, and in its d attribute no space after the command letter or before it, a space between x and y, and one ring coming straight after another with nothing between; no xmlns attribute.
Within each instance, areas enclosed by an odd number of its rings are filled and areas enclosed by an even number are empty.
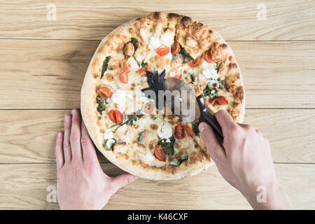
<svg viewBox="0 0 315 224"><path fill-rule="evenodd" d="M314 1L53 1L55 21L48 21L52 1L1 2L1 38L100 40L119 25L151 11L188 15L219 31L227 40L314 40ZM257 14L266 7L266 20Z"/></svg>

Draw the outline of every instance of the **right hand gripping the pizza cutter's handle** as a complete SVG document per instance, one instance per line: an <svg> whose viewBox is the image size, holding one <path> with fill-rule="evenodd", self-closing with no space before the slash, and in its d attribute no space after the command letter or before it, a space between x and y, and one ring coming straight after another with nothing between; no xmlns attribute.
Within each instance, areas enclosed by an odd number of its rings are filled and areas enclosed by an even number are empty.
<svg viewBox="0 0 315 224"><path fill-rule="evenodd" d="M227 111L218 111L214 116L222 128L223 146L207 123L200 123L199 129L223 178L237 188L254 209L293 209L276 179L269 141L251 125L235 123ZM258 189L265 189L266 202L258 202Z"/></svg>

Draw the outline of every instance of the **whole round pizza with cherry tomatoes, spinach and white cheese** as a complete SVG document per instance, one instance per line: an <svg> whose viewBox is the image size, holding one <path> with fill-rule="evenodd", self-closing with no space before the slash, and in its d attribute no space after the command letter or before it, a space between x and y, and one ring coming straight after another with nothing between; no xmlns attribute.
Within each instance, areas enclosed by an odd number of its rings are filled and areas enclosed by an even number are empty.
<svg viewBox="0 0 315 224"><path fill-rule="evenodd" d="M181 179L214 165L198 123L163 113L144 94L148 76L157 85L181 78L204 95L212 113L244 118L241 71L221 35L187 16L150 13L108 34L85 74L81 113L99 151L146 179Z"/></svg>

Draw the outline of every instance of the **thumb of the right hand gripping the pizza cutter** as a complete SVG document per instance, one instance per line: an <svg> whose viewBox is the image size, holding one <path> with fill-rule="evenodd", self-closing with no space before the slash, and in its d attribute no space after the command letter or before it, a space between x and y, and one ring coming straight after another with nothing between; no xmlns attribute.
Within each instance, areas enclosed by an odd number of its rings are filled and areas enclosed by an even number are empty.
<svg viewBox="0 0 315 224"><path fill-rule="evenodd" d="M214 130L207 123L200 123L199 125L200 135L204 145L207 147L212 158L220 160L225 158L224 148L220 145L218 137L214 134Z"/></svg>

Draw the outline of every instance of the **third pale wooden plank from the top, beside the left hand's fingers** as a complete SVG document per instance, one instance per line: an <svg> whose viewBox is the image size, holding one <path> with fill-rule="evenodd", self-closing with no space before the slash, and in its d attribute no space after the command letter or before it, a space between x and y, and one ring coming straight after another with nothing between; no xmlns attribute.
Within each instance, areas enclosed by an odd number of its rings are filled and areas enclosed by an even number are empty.
<svg viewBox="0 0 315 224"><path fill-rule="evenodd" d="M246 110L244 123L269 139L274 162L315 162L315 110ZM70 111L0 111L0 163L55 162L55 139ZM97 151L98 152L98 151ZM108 162L99 153L101 162Z"/></svg>

